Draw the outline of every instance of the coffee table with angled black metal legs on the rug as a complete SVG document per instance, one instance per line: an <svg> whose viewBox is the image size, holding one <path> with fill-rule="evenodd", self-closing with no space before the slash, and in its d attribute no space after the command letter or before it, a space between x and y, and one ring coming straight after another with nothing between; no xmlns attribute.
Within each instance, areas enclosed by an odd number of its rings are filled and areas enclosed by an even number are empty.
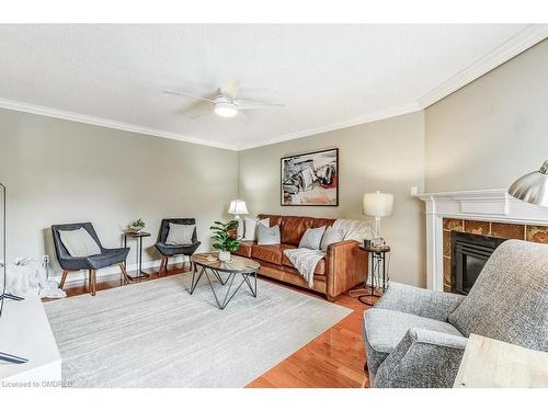
<svg viewBox="0 0 548 411"><path fill-rule="evenodd" d="M215 296L215 301L221 310L225 309L243 284L248 285L251 294L256 298L256 273L261 267L261 264L239 255L231 255L230 261L222 262L218 260L217 255L218 253L216 252L192 255L191 262L193 263L193 269L191 295L194 293L199 279L205 274L213 295ZM209 274L213 274L221 285L228 284L227 293L222 302L219 300L217 293L215 292ZM232 288L237 276L241 276L241 283L236 288ZM251 283L253 283L253 285Z"/></svg>

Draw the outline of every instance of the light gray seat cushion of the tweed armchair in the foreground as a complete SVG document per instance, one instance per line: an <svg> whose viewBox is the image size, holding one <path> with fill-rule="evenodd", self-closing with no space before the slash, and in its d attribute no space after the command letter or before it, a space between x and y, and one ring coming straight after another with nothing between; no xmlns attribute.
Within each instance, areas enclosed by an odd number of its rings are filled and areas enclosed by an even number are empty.
<svg viewBox="0 0 548 411"><path fill-rule="evenodd" d="M386 354L391 353L393 349L396 349L411 328L463 336L463 334L448 322L383 308L372 308L365 311L364 327L367 343L375 351Z"/></svg>

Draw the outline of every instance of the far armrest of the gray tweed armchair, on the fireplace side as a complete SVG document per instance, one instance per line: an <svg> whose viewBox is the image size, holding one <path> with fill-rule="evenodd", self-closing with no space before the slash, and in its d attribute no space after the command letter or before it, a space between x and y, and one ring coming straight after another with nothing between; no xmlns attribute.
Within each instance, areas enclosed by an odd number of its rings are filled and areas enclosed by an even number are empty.
<svg viewBox="0 0 548 411"><path fill-rule="evenodd" d="M375 308L447 321L449 313L458 307L464 298L458 294L433 292L390 282L385 295L378 300Z"/></svg>

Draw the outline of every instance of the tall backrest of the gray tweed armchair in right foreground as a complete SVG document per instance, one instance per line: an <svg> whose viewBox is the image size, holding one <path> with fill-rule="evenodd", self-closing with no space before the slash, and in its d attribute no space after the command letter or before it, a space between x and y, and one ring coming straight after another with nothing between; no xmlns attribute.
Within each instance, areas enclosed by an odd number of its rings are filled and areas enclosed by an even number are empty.
<svg viewBox="0 0 548 411"><path fill-rule="evenodd" d="M548 351L548 246L499 246L448 321L466 336Z"/></svg>

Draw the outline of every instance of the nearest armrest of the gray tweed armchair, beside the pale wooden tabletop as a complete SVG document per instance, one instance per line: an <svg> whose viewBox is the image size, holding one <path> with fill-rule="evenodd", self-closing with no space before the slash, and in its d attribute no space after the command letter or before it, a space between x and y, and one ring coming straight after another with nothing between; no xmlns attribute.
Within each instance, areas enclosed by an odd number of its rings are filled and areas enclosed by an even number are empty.
<svg viewBox="0 0 548 411"><path fill-rule="evenodd" d="M453 387L468 339L443 332L410 329L380 364L374 387Z"/></svg>

